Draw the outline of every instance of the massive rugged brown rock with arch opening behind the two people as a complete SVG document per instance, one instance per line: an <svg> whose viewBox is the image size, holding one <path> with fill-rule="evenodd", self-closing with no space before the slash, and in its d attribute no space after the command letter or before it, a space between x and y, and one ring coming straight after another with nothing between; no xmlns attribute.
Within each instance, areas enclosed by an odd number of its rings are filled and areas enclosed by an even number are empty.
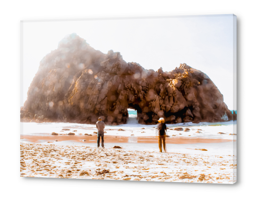
<svg viewBox="0 0 256 198"><path fill-rule="evenodd" d="M128 108L140 124L222 122L233 119L223 96L203 72L180 64L171 72L126 63L119 52L92 48L76 34L60 41L40 62L22 122L125 124Z"/></svg>

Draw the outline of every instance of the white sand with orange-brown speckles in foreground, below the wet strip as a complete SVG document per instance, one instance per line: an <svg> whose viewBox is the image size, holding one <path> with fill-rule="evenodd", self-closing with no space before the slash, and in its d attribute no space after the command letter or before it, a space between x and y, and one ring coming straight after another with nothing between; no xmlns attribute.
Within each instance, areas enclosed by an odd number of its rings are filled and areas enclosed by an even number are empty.
<svg viewBox="0 0 256 198"><path fill-rule="evenodd" d="M21 143L21 176L131 181L233 183L231 155Z"/></svg>

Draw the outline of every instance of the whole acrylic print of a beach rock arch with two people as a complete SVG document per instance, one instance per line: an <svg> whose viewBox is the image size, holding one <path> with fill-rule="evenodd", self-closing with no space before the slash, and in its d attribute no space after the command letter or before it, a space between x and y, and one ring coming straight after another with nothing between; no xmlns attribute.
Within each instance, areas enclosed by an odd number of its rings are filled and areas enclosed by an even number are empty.
<svg viewBox="0 0 256 198"><path fill-rule="evenodd" d="M21 22L21 176L236 181L236 16Z"/></svg>

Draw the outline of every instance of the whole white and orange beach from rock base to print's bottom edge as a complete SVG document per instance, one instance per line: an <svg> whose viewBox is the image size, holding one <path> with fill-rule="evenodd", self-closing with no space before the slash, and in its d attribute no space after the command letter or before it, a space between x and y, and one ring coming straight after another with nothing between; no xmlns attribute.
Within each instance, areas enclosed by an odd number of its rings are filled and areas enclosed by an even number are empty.
<svg viewBox="0 0 256 198"><path fill-rule="evenodd" d="M156 125L108 125L105 148L97 148L93 124L22 123L20 173L24 177L232 184L236 181L233 124L168 124L167 153L160 153Z"/></svg>

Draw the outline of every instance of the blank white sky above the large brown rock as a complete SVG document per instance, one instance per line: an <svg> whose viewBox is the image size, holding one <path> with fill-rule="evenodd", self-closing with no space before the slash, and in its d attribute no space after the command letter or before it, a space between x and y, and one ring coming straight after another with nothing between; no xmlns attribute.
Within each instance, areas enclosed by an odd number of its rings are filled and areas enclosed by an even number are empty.
<svg viewBox="0 0 256 198"><path fill-rule="evenodd" d="M233 15L148 19L23 22L21 106L42 58L65 35L77 33L94 49L119 51L126 62L171 71L180 63L201 70L233 108Z"/></svg>

